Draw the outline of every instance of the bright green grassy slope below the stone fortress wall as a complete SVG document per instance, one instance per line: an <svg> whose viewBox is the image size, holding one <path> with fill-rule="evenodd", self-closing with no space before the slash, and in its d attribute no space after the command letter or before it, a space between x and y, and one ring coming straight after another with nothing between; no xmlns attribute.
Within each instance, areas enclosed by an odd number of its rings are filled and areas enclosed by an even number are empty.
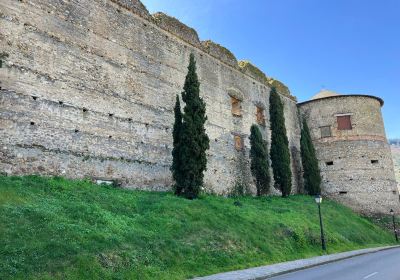
<svg viewBox="0 0 400 280"><path fill-rule="evenodd" d="M0 177L0 279L184 279L321 254L312 198L239 200ZM330 253L393 242L332 201L323 214Z"/></svg>

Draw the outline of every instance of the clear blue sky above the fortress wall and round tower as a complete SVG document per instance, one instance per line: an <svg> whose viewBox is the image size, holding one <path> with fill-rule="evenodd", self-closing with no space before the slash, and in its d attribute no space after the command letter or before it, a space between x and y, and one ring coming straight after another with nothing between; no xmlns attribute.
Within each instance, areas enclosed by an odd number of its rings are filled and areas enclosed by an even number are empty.
<svg viewBox="0 0 400 280"><path fill-rule="evenodd" d="M387 136L400 138L400 0L142 2L251 61L300 102L321 89L383 98Z"/></svg>

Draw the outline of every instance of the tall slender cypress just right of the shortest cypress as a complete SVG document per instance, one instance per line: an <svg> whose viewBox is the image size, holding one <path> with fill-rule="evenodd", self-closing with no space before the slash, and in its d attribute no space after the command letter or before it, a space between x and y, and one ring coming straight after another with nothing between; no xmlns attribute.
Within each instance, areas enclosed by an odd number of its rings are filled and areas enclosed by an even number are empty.
<svg viewBox="0 0 400 280"><path fill-rule="evenodd" d="M289 141L286 135L283 103L276 89L271 89L269 99L271 123L271 162L274 173L274 187L282 196L290 195L292 190L292 171L290 169Z"/></svg>

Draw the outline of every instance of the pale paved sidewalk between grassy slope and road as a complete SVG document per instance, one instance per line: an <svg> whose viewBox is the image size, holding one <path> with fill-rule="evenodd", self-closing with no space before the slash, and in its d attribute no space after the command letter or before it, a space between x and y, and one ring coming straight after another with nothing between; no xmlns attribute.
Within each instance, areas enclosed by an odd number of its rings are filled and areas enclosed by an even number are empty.
<svg viewBox="0 0 400 280"><path fill-rule="evenodd" d="M388 250L392 248L397 248L400 246L387 246L387 247L377 247L371 249L362 249L349 251L344 253L325 255L319 257L313 257L309 259L302 259L297 261L290 261L284 263L278 263L267 266L260 266L255 268L249 268L244 270L237 270L225 273L218 273L206 277L197 277L193 280L261 280L267 279L273 276L277 276L284 273L293 272L296 270L302 270L310 268L317 265L322 265L330 262L335 262L343 259L352 258L355 256L360 256L369 253L375 253L382 250Z"/></svg>

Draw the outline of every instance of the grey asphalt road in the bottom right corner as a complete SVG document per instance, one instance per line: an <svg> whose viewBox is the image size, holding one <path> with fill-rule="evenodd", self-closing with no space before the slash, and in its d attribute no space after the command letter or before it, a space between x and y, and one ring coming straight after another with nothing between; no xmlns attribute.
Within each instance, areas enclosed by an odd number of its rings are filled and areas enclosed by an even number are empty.
<svg viewBox="0 0 400 280"><path fill-rule="evenodd" d="M400 280L400 248L300 270L273 280Z"/></svg>

